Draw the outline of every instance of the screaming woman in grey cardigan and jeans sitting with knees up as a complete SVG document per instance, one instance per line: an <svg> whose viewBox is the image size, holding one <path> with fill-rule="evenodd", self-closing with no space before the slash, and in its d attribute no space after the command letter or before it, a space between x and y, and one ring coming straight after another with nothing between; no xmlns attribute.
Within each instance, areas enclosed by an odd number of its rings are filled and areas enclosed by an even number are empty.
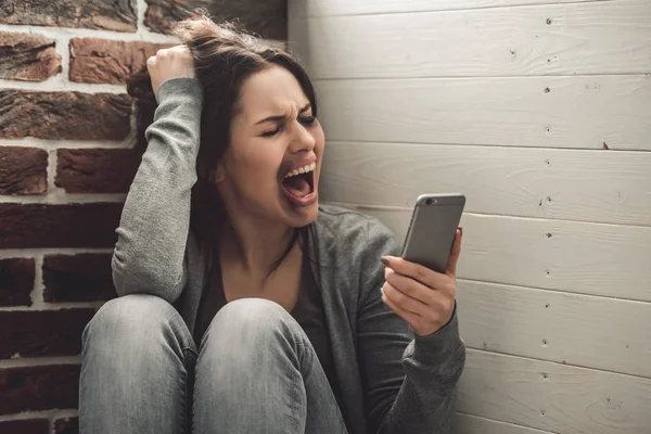
<svg viewBox="0 0 651 434"><path fill-rule="evenodd" d="M82 337L81 432L448 432L461 233L442 275L318 205L304 69L205 16L177 35L129 85L157 106L117 229L120 296Z"/></svg>

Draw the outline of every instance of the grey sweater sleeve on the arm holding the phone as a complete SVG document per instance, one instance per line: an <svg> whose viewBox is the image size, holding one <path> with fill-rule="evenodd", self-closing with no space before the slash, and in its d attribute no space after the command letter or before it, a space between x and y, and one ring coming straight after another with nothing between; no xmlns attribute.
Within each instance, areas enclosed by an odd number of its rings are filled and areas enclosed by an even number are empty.
<svg viewBox="0 0 651 434"><path fill-rule="evenodd" d="M388 229L371 219L358 314L369 433L449 433L465 361L457 314L436 333L414 339L409 324L382 302L382 255L399 250Z"/></svg>

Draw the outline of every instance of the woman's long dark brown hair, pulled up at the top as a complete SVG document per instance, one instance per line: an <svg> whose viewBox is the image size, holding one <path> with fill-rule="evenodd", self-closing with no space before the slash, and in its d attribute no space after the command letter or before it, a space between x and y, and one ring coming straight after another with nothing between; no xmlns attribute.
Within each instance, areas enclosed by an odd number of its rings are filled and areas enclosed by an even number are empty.
<svg viewBox="0 0 651 434"><path fill-rule="evenodd" d="M207 12L197 10L177 23L174 34L187 44L194 58L196 77L203 86L201 144L196 158L197 181L192 188L190 227L202 248L210 248L216 227L228 218L216 186L214 170L230 143L230 122L237 114L240 88L251 75L279 65L288 69L301 85L317 116L312 84L298 61L288 51L271 46L232 23L216 24ZM136 100L137 146L146 145L144 130L153 122L156 100L146 67L127 81L127 91ZM272 272L297 241L305 243L310 226L294 231L283 255L272 265ZM305 245L304 245L305 248Z"/></svg>

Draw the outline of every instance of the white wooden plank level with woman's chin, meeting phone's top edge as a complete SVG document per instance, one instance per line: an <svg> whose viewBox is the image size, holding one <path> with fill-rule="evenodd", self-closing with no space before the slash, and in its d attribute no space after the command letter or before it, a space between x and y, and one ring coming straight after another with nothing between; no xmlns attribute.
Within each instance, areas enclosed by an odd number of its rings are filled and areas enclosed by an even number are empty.
<svg viewBox="0 0 651 434"><path fill-rule="evenodd" d="M412 206L459 191L470 213L651 226L647 152L329 142L322 167L327 201Z"/></svg>

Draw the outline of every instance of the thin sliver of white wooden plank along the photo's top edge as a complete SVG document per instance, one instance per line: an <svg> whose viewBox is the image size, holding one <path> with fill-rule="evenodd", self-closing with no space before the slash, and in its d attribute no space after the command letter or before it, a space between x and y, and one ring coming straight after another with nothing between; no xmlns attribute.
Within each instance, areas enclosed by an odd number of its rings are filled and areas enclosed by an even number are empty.
<svg viewBox="0 0 651 434"><path fill-rule="evenodd" d="M290 0L290 20L308 16L387 14L401 12L456 11L526 4L577 3L609 0Z"/></svg>

